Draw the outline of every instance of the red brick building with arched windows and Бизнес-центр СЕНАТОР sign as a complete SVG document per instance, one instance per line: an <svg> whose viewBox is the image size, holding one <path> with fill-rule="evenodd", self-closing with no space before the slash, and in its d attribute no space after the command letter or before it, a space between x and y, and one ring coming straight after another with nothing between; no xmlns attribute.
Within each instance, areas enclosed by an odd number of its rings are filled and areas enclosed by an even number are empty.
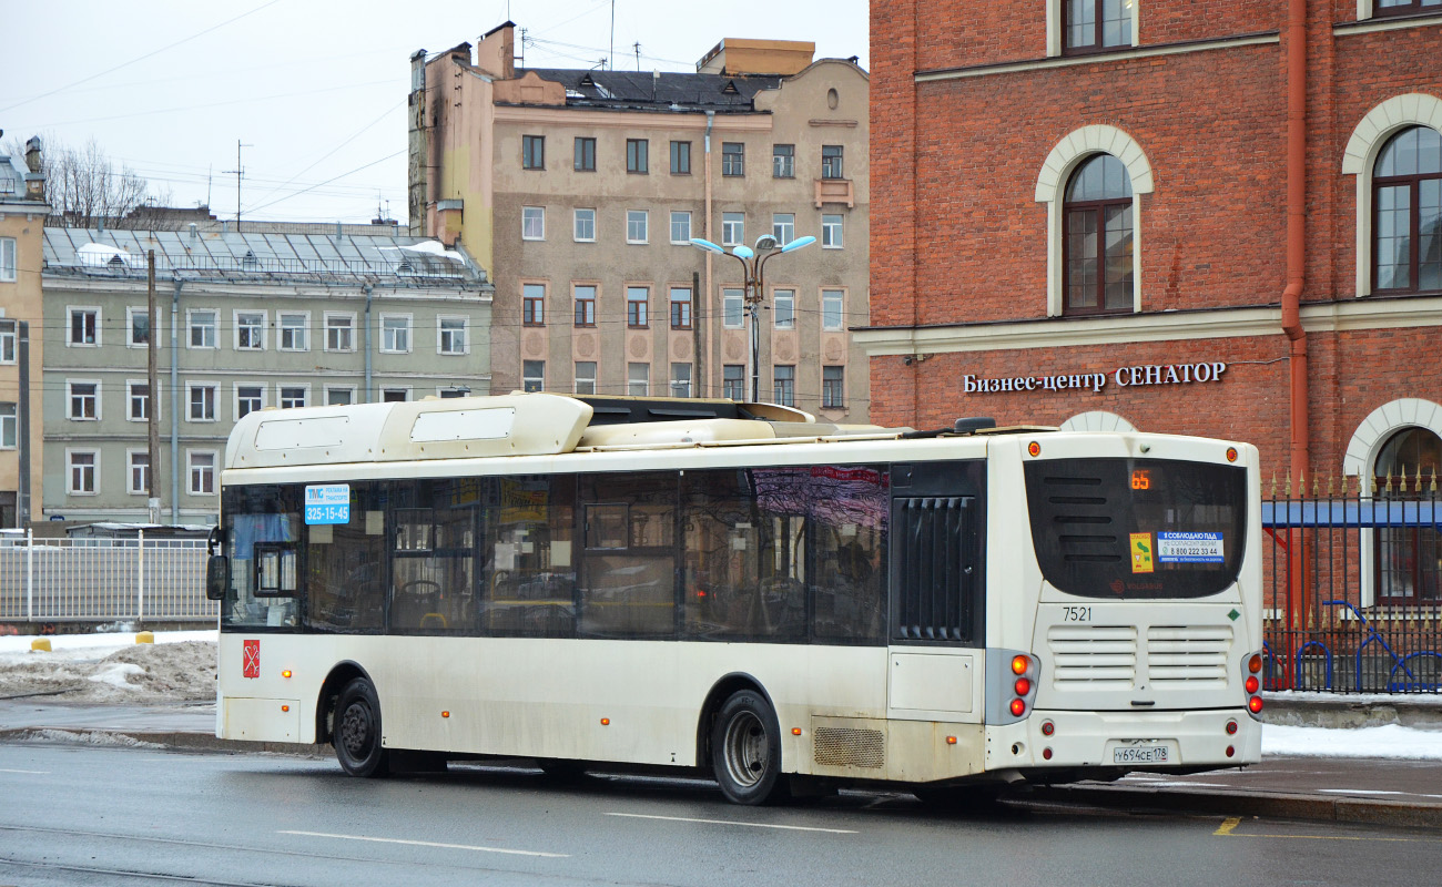
<svg viewBox="0 0 1442 887"><path fill-rule="evenodd" d="M1442 0L871 6L871 420L1442 462Z"/></svg>

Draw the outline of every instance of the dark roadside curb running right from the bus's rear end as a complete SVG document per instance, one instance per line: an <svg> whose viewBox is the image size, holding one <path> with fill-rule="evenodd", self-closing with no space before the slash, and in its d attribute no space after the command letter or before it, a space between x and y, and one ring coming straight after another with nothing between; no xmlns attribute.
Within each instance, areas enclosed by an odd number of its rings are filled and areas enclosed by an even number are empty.
<svg viewBox="0 0 1442 887"><path fill-rule="evenodd" d="M1312 822L1355 822L1409 828L1442 828L1442 803L1406 803L1367 798L1283 793L1211 793L1099 785L1037 786L1018 800L1051 800L1090 806L1164 809L1223 816L1268 816Z"/></svg>

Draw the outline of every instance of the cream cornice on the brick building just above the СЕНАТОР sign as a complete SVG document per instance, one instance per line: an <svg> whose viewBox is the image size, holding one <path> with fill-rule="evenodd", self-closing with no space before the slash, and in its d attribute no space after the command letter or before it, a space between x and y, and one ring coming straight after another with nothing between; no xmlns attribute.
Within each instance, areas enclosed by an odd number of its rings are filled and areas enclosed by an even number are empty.
<svg viewBox="0 0 1442 887"><path fill-rule="evenodd" d="M1348 299L1345 301L1304 304L1302 326L1309 333L1442 326L1442 296ZM1280 335L1280 306L852 330L855 343L865 350L867 356L1082 348Z"/></svg>

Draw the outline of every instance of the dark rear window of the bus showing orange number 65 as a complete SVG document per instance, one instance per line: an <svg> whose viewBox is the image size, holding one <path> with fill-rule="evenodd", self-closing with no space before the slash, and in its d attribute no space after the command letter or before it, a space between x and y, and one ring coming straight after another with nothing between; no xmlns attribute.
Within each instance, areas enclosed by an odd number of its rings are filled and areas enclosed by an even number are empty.
<svg viewBox="0 0 1442 887"><path fill-rule="evenodd" d="M1206 597L1237 580L1246 470L1158 459L1032 462L1027 506L1037 562L1067 594Z"/></svg>

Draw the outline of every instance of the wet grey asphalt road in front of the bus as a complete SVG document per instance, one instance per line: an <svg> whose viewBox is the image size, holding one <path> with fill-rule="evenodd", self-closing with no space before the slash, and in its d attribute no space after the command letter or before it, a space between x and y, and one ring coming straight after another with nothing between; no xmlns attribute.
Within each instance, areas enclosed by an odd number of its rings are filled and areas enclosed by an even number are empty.
<svg viewBox="0 0 1442 887"><path fill-rule="evenodd" d="M0 884L1420 884L1442 834L844 793L737 808L714 785L454 766L0 746Z"/></svg>

